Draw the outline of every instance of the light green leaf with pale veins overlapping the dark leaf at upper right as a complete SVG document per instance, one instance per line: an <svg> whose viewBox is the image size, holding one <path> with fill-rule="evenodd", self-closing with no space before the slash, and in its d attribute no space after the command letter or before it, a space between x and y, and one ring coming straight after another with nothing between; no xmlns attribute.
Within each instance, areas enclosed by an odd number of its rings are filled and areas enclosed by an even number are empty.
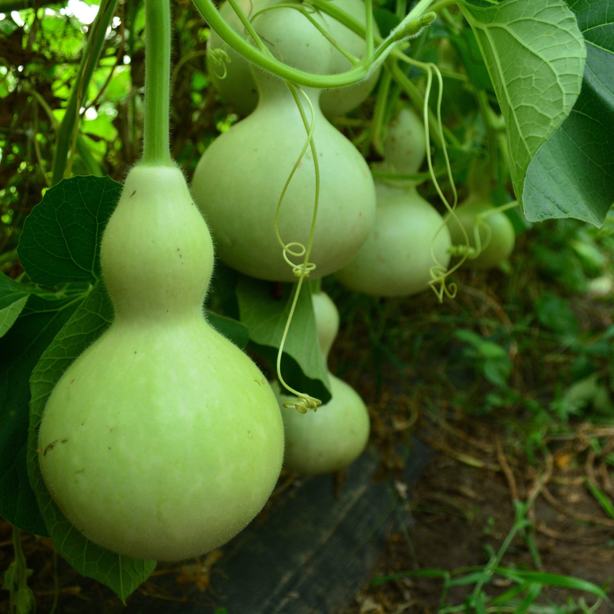
<svg viewBox="0 0 614 614"><path fill-rule="evenodd" d="M564 0L460 6L505 118L511 179L520 200L531 158L569 115L580 93L583 37Z"/></svg>

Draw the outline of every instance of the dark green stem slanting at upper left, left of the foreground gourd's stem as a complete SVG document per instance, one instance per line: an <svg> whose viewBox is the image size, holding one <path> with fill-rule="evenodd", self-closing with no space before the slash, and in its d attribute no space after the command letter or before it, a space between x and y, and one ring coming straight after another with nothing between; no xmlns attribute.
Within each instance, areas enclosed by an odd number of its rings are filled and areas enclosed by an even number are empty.
<svg viewBox="0 0 614 614"><path fill-rule="evenodd" d="M98 64L107 28L111 25L111 19L115 13L115 4L117 4L117 0L104 0L91 25L83 58L79 66L79 74L77 74L77 79L74 82L71 97L66 106L66 113L58 131L58 140L56 141L55 153L53 155L53 185L64 179L66 158L71 148L76 144L76 134L79 129L79 109L82 106L84 93L90 84L91 75L96 68L96 64Z"/></svg>

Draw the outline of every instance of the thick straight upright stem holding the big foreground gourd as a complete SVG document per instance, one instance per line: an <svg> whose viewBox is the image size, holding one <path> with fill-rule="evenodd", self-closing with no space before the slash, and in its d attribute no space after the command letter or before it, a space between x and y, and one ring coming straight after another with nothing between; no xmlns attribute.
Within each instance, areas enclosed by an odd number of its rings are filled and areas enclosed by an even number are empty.
<svg viewBox="0 0 614 614"><path fill-rule="evenodd" d="M142 162L173 166L168 143L171 77L169 0L145 0L145 122Z"/></svg>

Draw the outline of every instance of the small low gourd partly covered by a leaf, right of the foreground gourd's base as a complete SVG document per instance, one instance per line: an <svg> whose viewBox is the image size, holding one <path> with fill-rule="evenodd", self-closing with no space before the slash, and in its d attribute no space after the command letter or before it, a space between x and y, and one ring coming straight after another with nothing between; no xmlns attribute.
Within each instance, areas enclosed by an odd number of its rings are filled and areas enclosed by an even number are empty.
<svg viewBox="0 0 614 614"><path fill-rule="evenodd" d="M339 328L339 313L325 292L312 295L317 335L326 362ZM335 472L351 464L367 445L369 415L359 394L343 380L328 373L331 399L317 411L298 413L282 403L292 398L279 393L286 429L284 468L315 475Z"/></svg>

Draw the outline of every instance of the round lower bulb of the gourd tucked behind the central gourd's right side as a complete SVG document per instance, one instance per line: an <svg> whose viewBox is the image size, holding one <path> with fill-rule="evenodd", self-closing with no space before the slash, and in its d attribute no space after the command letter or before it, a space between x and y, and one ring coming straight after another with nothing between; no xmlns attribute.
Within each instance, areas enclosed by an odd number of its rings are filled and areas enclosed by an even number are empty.
<svg viewBox="0 0 614 614"><path fill-rule="evenodd" d="M376 184L373 230L354 260L335 273L345 287L379 297L403 297L429 287L430 269L448 266L451 245L443 218L416 192ZM438 233L438 234L437 234Z"/></svg>

